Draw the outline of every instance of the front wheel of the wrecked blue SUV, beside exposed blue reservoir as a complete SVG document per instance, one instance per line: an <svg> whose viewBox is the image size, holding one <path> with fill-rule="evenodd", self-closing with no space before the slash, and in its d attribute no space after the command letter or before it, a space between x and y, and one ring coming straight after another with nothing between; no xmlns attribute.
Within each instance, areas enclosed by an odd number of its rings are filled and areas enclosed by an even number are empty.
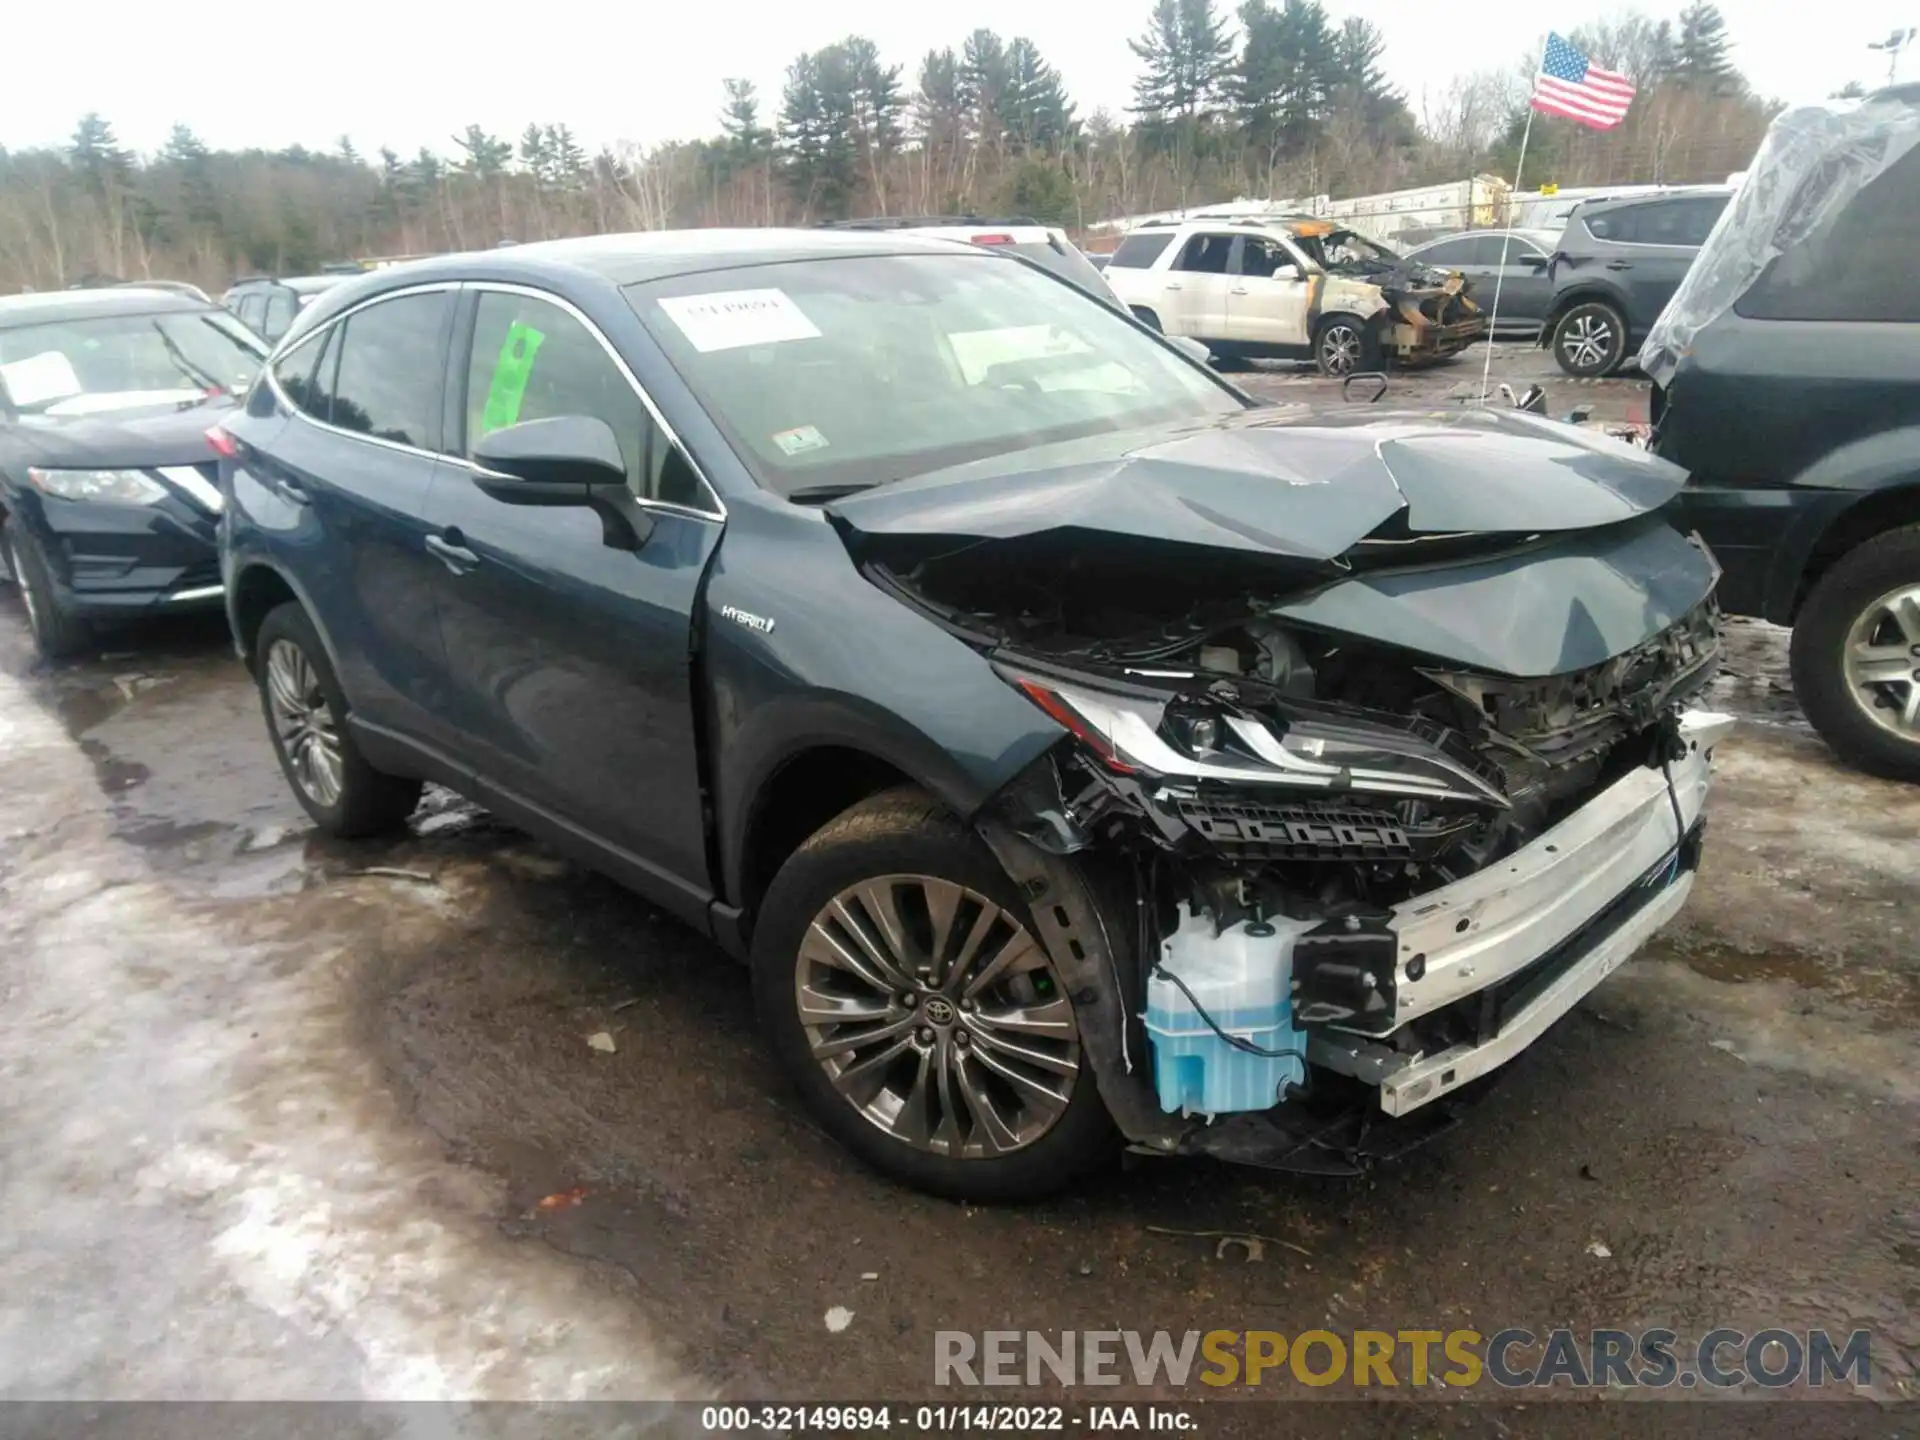
<svg viewBox="0 0 1920 1440"><path fill-rule="evenodd" d="M1112 1152L1073 1002L1020 889L918 789L862 801L781 866L753 989L806 1108L897 1181L1029 1200Z"/></svg>

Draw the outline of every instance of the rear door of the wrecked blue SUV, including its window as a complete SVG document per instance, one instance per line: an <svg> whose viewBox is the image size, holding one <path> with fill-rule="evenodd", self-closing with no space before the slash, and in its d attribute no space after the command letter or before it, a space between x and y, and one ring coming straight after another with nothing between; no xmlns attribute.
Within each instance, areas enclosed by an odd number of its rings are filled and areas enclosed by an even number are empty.
<svg viewBox="0 0 1920 1440"><path fill-rule="evenodd" d="M374 300L273 371L294 411L234 484L332 639L355 720L444 735L438 566L426 501L444 468L447 286Z"/></svg>

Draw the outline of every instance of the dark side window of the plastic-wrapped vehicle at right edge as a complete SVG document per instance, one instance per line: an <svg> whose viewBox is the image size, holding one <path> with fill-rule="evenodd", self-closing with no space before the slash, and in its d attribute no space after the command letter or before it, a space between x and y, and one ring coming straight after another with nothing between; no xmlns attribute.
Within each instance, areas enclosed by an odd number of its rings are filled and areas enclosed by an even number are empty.
<svg viewBox="0 0 1920 1440"><path fill-rule="evenodd" d="M1853 204L1774 255L1734 305L1757 321L1920 321L1920 150L1860 190Z"/></svg>

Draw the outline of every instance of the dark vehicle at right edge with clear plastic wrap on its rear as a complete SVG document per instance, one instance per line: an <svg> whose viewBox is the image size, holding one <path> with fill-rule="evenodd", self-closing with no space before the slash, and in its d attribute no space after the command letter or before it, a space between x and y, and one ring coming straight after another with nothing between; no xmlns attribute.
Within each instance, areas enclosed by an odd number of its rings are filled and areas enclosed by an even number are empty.
<svg viewBox="0 0 1920 1440"><path fill-rule="evenodd" d="M1774 121L1640 353L1720 603L1793 626L1793 689L1920 780L1920 86Z"/></svg>

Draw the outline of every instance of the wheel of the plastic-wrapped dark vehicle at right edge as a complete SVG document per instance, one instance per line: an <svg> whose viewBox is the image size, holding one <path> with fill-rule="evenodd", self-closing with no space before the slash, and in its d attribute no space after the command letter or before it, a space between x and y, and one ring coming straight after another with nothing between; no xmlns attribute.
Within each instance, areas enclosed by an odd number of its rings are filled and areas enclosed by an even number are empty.
<svg viewBox="0 0 1920 1440"><path fill-rule="evenodd" d="M1920 781L1920 526L1839 557L1793 622L1793 693L1841 760Z"/></svg>

